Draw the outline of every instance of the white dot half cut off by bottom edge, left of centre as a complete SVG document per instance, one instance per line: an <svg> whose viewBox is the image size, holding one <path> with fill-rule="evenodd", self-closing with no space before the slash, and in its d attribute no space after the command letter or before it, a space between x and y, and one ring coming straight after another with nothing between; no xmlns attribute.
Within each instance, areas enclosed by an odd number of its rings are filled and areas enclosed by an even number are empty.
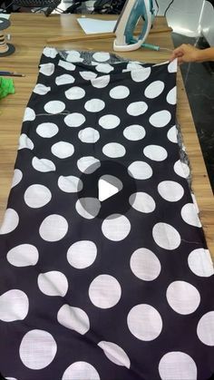
<svg viewBox="0 0 214 380"><path fill-rule="evenodd" d="M62 380L100 380L100 376L89 363L75 362L64 371Z"/></svg>

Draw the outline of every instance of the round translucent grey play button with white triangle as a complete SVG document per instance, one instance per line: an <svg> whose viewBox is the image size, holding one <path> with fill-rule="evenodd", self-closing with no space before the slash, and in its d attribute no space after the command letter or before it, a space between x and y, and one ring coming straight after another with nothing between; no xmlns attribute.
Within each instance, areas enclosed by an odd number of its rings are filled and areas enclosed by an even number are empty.
<svg viewBox="0 0 214 380"><path fill-rule="evenodd" d="M136 192L136 182L121 163L94 162L83 171L81 180L76 210L83 218L105 219L111 214L124 215L131 208L129 198Z"/></svg>

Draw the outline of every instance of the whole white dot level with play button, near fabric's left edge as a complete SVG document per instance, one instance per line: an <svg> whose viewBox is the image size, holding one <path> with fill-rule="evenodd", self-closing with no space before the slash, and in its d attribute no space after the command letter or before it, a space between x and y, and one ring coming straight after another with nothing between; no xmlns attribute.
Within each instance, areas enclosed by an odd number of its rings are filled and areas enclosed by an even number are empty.
<svg viewBox="0 0 214 380"><path fill-rule="evenodd" d="M24 192L24 201L27 206L38 209L46 205L52 199L51 191L44 185L31 185Z"/></svg>

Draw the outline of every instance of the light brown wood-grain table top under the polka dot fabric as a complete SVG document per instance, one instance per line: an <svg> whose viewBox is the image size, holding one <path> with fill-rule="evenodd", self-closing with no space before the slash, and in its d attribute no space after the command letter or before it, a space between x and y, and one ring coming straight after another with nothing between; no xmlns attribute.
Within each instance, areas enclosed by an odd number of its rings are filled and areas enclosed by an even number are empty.
<svg viewBox="0 0 214 380"><path fill-rule="evenodd" d="M113 18L113 16L109 17ZM25 73L26 76L15 78L15 95L7 96L0 102L0 221L3 219L11 186L24 108L36 82L37 66L46 40L53 36L83 34L81 27L76 22L76 15L51 15L46 18L44 15L14 14L11 15L10 20L11 27L7 29L6 33L12 35L15 54L0 58L1 70L13 70ZM161 26L166 27L166 22L163 17L158 17L154 27ZM173 48L170 33L150 34L147 42ZM62 49L92 49L112 52L112 40L68 42L57 46ZM121 55L133 60L159 63L167 61L170 53L141 49ZM209 250L214 258L214 200L180 72L178 74L177 114L190 158L192 189L199 204L200 219Z"/></svg>

